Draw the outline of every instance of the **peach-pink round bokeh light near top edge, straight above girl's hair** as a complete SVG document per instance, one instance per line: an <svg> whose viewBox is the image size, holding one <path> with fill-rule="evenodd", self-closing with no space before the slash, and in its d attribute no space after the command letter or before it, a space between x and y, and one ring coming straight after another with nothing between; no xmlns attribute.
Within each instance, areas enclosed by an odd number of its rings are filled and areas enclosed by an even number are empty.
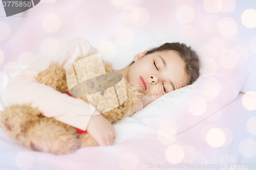
<svg viewBox="0 0 256 170"><path fill-rule="evenodd" d="M181 5L176 10L176 18L181 23L189 23L191 22L195 17L195 13L192 7L188 5Z"/></svg>

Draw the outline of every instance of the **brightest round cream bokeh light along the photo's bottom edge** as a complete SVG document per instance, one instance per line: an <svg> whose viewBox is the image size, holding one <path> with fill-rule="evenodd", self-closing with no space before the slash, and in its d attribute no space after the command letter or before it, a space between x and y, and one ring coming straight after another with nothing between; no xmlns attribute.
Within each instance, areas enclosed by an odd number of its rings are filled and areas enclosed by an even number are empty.
<svg viewBox="0 0 256 170"><path fill-rule="evenodd" d="M184 150L178 144L170 145L165 151L165 158L173 164L181 162L184 156Z"/></svg>

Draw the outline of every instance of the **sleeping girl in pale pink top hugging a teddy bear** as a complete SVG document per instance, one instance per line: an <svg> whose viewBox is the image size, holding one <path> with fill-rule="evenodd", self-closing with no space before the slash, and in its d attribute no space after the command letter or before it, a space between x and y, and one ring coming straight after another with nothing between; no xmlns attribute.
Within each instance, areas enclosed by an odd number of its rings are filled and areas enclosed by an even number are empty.
<svg viewBox="0 0 256 170"><path fill-rule="evenodd" d="M97 53L83 37L68 41L13 77L6 86L4 99L10 105L32 103L32 107L38 107L47 117L87 130L99 145L111 145L115 138L114 128L95 107L93 115L96 116L76 116L91 112L92 106L38 83L35 79L39 72L49 66L49 62L55 61L66 69L81 53L91 51ZM165 93L195 82L199 77L199 58L190 46L178 42L165 43L135 55L134 61L127 67L114 71L120 72L124 79L143 94L142 109Z"/></svg>

